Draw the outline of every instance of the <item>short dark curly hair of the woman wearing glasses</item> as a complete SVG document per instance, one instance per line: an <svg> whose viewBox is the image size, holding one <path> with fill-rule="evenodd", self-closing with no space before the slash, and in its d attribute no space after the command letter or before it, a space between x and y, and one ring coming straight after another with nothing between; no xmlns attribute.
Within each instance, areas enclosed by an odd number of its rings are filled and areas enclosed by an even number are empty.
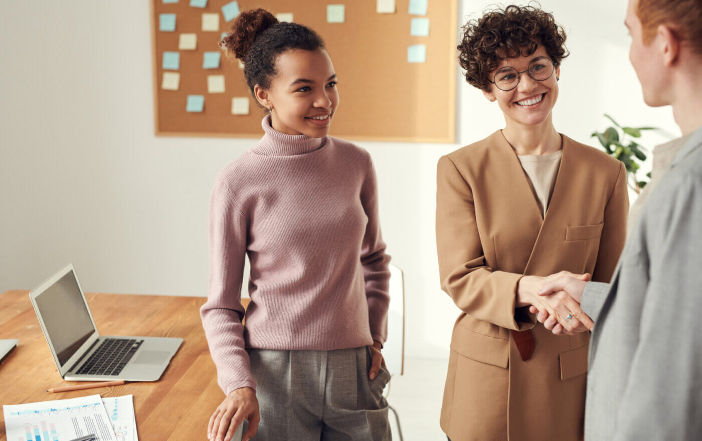
<svg viewBox="0 0 702 441"><path fill-rule="evenodd" d="M541 5L536 5L496 8L463 26L458 62L465 81L489 92L489 75L501 60L529 56L539 45L556 66L569 55L563 27L556 24L552 14L541 11Z"/></svg>

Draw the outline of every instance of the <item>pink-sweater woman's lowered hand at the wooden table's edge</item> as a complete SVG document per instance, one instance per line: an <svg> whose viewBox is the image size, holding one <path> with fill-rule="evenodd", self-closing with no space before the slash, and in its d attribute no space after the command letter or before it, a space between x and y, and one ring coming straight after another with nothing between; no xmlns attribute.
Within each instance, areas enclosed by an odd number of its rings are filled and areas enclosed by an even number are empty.
<svg viewBox="0 0 702 441"><path fill-rule="evenodd" d="M256 391L252 388L234 389L227 395L227 398L210 416L210 422L207 425L208 440L230 440L244 419L249 420L249 428L241 437L241 441L249 441L256 435L258 422L261 419Z"/></svg>

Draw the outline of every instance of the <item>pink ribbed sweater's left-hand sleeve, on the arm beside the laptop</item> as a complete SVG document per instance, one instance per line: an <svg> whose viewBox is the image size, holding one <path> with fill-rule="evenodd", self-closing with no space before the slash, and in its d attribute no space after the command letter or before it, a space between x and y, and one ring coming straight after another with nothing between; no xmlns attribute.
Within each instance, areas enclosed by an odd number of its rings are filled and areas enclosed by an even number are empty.
<svg viewBox="0 0 702 441"><path fill-rule="evenodd" d="M210 274L207 301L200 308L202 326L218 384L226 395L256 388L244 343L241 279L246 255L246 219L232 202L229 188L217 181L210 198Z"/></svg>

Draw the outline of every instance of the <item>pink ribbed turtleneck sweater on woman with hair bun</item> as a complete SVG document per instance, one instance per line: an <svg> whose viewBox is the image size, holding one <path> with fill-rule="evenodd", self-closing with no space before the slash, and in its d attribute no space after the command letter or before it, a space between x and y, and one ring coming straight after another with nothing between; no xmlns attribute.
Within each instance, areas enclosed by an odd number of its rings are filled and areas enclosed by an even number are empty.
<svg viewBox="0 0 702 441"><path fill-rule="evenodd" d="M333 137L274 130L227 165L210 199L202 324L223 391L256 388L245 348L317 350L385 342L390 256L369 154ZM241 325L249 255L251 304Z"/></svg>

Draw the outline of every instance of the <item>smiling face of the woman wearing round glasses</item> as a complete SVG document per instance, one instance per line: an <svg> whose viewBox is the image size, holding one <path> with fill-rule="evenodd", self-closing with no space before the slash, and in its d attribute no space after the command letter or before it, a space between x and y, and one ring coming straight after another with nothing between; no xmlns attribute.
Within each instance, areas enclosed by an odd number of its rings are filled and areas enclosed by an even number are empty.
<svg viewBox="0 0 702 441"><path fill-rule="evenodd" d="M490 91L483 92L489 100L497 101L508 124L514 122L523 125L538 125L550 119L551 110L558 98L557 78L560 76L560 68L556 67L548 79L536 81L524 71L529 69L529 64L538 57L548 57L548 53L541 45L529 56L502 60L489 75L491 81L496 81L495 74L502 72L501 69L507 66L517 69L517 72L523 72L519 74L521 79L516 88L505 91L491 84Z"/></svg>

